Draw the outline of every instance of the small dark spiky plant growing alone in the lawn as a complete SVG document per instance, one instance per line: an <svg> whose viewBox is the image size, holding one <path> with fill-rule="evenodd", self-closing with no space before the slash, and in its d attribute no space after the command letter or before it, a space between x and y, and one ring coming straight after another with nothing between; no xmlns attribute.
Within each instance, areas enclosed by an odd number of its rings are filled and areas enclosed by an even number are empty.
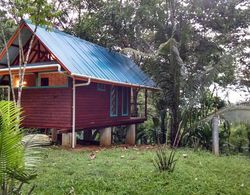
<svg viewBox="0 0 250 195"><path fill-rule="evenodd" d="M166 147L159 147L154 158L154 166L159 171L173 172L177 159L175 158L175 149L171 149L170 153Z"/></svg>

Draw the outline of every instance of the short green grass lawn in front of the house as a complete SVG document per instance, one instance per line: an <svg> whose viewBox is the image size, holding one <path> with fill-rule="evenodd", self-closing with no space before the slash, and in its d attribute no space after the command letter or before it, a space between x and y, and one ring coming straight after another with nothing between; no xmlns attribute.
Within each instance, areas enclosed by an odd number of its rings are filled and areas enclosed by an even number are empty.
<svg viewBox="0 0 250 195"><path fill-rule="evenodd" d="M175 171L160 173L152 149L94 153L91 160L90 151L44 149L33 194L250 194L249 157L179 149Z"/></svg>

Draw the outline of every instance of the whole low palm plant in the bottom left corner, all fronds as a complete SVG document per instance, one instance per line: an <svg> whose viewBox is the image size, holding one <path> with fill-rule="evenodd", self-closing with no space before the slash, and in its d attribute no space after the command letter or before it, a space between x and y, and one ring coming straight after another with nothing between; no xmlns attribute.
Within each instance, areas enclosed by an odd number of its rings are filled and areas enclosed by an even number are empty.
<svg viewBox="0 0 250 195"><path fill-rule="evenodd" d="M0 101L0 192L3 195L20 193L22 185L36 176L33 168L38 160L37 152L33 144L22 144L20 122L20 109L13 102Z"/></svg>

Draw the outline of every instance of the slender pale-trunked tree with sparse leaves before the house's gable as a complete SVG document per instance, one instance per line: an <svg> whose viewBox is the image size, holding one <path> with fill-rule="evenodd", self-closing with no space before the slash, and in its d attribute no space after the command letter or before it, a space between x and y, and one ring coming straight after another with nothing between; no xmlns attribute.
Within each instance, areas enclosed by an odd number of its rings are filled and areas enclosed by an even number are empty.
<svg viewBox="0 0 250 195"><path fill-rule="evenodd" d="M37 30L38 25L45 25L50 27L51 26L51 20L57 16L59 13L54 10L54 7L52 4L49 4L46 0L13 0L13 1L2 1L1 6L4 6L8 13L11 14L12 19L15 21L17 25L20 25L22 20L25 17L29 17L29 19L35 24L34 33L32 34L32 37L28 44L27 52L24 51L23 48L23 41L21 36L21 29L18 28L18 45L19 45L19 84L18 84L18 90L17 90L17 98L15 98L15 92L14 92L14 85L12 81L12 72L10 69L11 62L9 57L9 51L6 41L6 33L4 32L4 28L2 26L2 39L4 42L4 49L7 55L7 64L9 67L9 75L10 75L10 86L12 89L12 96L13 100L16 101L16 104L18 106L21 106L21 96L22 96L22 89L23 89L23 82L24 82L24 75L26 66L30 57L31 49L33 46L33 42L35 39L35 34ZM3 25L1 23L1 25Z"/></svg>

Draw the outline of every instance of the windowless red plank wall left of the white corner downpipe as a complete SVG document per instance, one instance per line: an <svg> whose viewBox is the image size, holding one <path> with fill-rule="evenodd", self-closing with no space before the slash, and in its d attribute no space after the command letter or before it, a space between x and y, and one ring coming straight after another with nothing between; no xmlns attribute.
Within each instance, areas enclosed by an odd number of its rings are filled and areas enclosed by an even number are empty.
<svg viewBox="0 0 250 195"><path fill-rule="evenodd" d="M72 89L24 89L22 108L24 127L69 129L72 126Z"/></svg>

